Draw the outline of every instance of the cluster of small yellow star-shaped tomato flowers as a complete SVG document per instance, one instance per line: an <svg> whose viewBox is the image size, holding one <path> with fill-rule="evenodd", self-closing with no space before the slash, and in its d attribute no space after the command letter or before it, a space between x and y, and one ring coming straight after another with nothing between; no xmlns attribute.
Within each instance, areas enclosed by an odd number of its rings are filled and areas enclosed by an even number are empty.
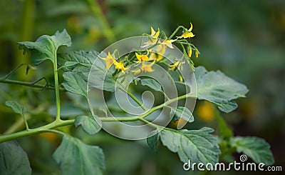
<svg viewBox="0 0 285 175"><path fill-rule="evenodd" d="M176 36L176 39L172 39L177 32L182 29L182 34ZM169 63L169 60L164 59L165 51L167 48L174 49L173 44L178 44L181 46L183 54L187 58L187 61L190 62L191 68L194 70L194 64L191 58L192 52L195 51L195 56L199 56L198 49L191 44L187 39L191 39L195 36L192 33L193 25L190 23L190 29L186 29L184 26L178 26L173 34L169 37L165 33L160 31L158 28L157 31L150 28L151 33L148 36L148 41L144 43L142 48L145 48L143 51L135 51L135 54L130 54L126 56L123 60L115 59L114 53L108 55L105 58L102 58L105 61L106 69L110 69L111 66L115 66L117 72L122 72L126 74L126 71L130 68L130 65L133 64L133 69L130 69L128 73L130 74L140 74L142 72L152 72L155 71L152 66L156 64L167 64L169 71L176 71L178 68L185 64L185 61L175 60L174 63ZM121 60L121 61L118 61ZM180 79L181 80L181 79Z"/></svg>

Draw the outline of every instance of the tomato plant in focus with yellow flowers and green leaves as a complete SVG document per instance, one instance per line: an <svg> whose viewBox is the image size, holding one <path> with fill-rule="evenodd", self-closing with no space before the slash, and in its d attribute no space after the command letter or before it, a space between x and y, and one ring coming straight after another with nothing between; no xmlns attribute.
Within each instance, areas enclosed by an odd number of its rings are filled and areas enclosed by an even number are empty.
<svg viewBox="0 0 285 175"><path fill-rule="evenodd" d="M118 41L100 53L60 49L71 46L66 30L40 36L34 42L19 42L19 49L30 54L33 65L21 64L0 82L42 89L43 93L54 91L55 118L51 116L53 121L43 125L30 124L33 109L26 109L19 101L6 101L6 106L21 116L25 129L0 136L0 173L31 174L28 156L16 139L53 133L62 136L61 145L53 153L62 174L102 174L103 169L108 169L103 149L85 144L61 128L72 125L90 135L104 129L121 139L145 140L155 151L162 144L185 163L215 164L233 158L234 152L242 152L256 163L273 164L270 146L264 139L234 136L227 126L220 111L237 109L234 100L245 97L248 89L222 71L195 66L193 60L200 53L190 42L195 37L192 29L192 24L189 28L178 26L167 36L151 28L150 34ZM52 69L46 69L53 74L53 80L10 79L23 66L28 74L35 67L43 69L40 65L46 62L52 64ZM68 101L64 94L73 103L65 111L78 110L78 114L64 114L63 104ZM192 112L196 100L217 106L211 109L217 119L215 135L208 126L182 129L195 120Z"/></svg>

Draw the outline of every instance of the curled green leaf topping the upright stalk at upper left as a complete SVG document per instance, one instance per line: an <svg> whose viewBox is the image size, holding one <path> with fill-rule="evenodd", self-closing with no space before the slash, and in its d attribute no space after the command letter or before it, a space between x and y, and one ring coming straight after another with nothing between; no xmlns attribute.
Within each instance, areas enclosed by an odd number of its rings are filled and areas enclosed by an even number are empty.
<svg viewBox="0 0 285 175"><path fill-rule="evenodd" d="M34 65L41 64L41 62L49 59L54 63L56 51L59 46L71 46L71 36L68 35L66 29L53 36L43 35L35 42L24 41L19 42L19 49L24 49L24 54L27 51L31 52L31 59Z"/></svg>

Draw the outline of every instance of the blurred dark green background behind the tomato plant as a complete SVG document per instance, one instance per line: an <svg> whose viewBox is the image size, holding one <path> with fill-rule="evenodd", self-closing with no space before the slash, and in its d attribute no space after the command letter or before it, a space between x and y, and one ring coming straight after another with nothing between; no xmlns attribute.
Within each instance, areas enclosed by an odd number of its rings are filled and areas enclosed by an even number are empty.
<svg viewBox="0 0 285 175"><path fill-rule="evenodd" d="M201 53L194 59L195 65L203 65L208 70L219 69L249 88L247 99L238 100L236 111L222 114L234 134L266 139L275 165L285 168L285 1L1 0L0 7L0 76L23 62L31 64L28 56L18 51L18 41L35 41L38 36L53 35L57 30L68 31L73 41L72 50L101 51L119 39L149 34L150 26L159 27L169 35L177 26L189 27L192 22L196 34L192 42ZM46 63L31 69L28 76L23 68L10 78L33 81L44 76L52 82L49 68L51 65ZM66 106L76 106L73 103L76 96L68 94L61 98L67 101ZM9 133L10 126L14 127L10 131L21 130L21 118L4 106L6 100L27 106L31 111L31 126L53 120L53 91L0 84L2 134ZM215 127L213 114L201 112L210 108L199 101L196 121L187 128ZM154 153L145 141L115 139L104 131L88 136L73 127L63 130L87 144L103 148L104 174L192 174L183 171L178 156L163 146ZM41 134L19 139L19 142L28 153L33 174L59 173L51 154L61 138ZM208 174L218 173L221 172Z"/></svg>

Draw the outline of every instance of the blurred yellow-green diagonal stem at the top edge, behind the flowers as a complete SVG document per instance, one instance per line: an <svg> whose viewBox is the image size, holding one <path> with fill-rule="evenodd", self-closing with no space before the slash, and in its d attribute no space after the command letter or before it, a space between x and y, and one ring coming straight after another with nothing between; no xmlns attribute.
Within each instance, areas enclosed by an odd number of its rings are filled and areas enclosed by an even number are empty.
<svg viewBox="0 0 285 175"><path fill-rule="evenodd" d="M97 0L86 0L86 1L90 5L93 14L97 17L100 25L102 26L105 36L107 37L109 43L113 43L115 41L115 36L113 34L112 29L110 28L108 20L105 18L103 11L100 8L100 5L98 4L98 1Z"/></svg>

